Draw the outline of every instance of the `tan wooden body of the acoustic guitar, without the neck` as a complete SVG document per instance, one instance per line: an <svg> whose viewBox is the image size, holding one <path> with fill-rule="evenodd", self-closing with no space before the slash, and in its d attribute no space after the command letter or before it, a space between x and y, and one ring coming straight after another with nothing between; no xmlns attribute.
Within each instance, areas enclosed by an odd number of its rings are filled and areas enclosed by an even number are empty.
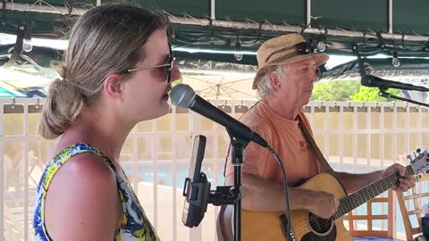
<svg viewBox="0 0 429 241"><path fill-rule="evenodd" d="M338 199L346 196L341 183L327 173L316 175L299 188L332 193ZM254 212L242 210L241 235L245 241L286 240L285 212ZM282 217L282 218L281 218ZM304 211L290 211L292 240L297 241L348 241L353 240L344 228L342 217L323 220ZM318 220L318 221L317 221ZM290 240L286 240L290 241Z"/></svg>

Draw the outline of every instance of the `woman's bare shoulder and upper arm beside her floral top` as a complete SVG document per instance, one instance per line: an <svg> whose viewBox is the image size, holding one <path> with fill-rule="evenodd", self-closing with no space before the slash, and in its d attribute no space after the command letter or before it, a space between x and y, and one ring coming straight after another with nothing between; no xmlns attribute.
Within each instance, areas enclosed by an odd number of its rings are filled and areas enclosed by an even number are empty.
<svg viewBox="0 0 429 241"><path fill-rule="evenodd" d="M47 191L46 224L50 235L53 232L53 237L61 239L67 229L80 230L81 235L99 235L101 227L95 227L102 221L103 229L112 231L109 237L113 237L120 217L115 212L120 204L116 185L115 174L103 157L89 153L72 156L57 171Z"/></svg>

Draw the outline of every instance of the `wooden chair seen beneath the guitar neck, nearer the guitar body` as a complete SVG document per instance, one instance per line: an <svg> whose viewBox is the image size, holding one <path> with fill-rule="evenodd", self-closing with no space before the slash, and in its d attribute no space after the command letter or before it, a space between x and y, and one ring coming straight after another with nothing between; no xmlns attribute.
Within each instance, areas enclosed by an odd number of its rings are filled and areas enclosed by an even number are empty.
<svg viewBox="0 0 429 241"><path fill-rule="evenodd" d="M373 214L373 204L387 203L387 214ZM366 203L366 215L357 215L349 212L344 216L349 220L349 234L352 237L393 237L393 192L388 191L387 197L377 196ZM366 220L366 229L356 229L355 220ZM387 220L386 229L373 229L373 220Z"/></svg>

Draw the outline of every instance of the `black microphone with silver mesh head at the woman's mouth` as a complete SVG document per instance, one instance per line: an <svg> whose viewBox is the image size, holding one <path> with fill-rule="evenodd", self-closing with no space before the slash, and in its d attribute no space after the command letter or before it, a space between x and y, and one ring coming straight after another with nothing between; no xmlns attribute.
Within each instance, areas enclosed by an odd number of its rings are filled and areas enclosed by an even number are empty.
<svg viewBox="0 0 429 241"><path fill-rule="evenodd" d="M263 147L268 146L263 137L260 137L239 120L235 120L227 113L216 108L213 104L196 95L192 87L185 84L178 84L172 87L170 97L172 104L198 112L202 116L225 127L233 136L240 137L245 141L253 141Z"/></svg>

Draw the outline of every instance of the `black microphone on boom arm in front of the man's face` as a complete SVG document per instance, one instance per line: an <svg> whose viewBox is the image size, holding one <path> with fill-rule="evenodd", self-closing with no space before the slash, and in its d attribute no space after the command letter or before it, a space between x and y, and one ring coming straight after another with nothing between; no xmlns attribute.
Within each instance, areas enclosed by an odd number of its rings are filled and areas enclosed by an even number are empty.
<svg viewBox="0 0 429 241"><path fill-rule="evenodd" d="M411 84L401 83L398 81L391 81L387 79L381 79L375 77L374 75L366 75L360 79L360 84L366 87L379 87L381 89L387 88L399 88L406 90L416 90L416 91L429 91L427 87L414 86Z"/></svg>

